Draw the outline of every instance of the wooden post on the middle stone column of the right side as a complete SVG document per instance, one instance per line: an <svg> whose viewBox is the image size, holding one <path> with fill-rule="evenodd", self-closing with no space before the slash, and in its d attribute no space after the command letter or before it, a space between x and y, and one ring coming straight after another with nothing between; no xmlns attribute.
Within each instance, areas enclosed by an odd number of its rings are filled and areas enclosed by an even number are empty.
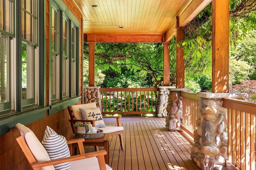
<svg viewBox="0 0 256 170"><path fill-rule="evenodd" d="M177 44L185 37L185 32L182 27L179 27L179 18L176 17L176 88L185 88L185 62L183 47L178 47Z"/></svg>

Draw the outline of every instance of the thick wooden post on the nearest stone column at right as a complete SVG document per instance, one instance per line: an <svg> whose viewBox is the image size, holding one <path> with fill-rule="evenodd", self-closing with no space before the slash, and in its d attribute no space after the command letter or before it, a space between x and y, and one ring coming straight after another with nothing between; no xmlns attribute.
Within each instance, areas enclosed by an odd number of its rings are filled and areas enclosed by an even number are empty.
<svg viewBox="0 0 256 170"><path fill-rule="evenodd" d="M212 93L228 92L229 0L212 0Z"/></svg>

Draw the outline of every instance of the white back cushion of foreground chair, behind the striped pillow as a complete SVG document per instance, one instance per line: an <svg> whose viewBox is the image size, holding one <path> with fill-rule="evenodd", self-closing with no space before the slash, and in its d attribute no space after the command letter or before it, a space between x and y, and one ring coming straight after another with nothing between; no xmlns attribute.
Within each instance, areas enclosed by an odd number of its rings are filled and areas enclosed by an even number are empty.
<svg viewBox="0 0 256 170"><path fill-rule="evenodd" d="M28 127L22 125L21 123L17 123L16 128L20 131L20 135L26 141L30 151L34 155L37 162L50 160L48 153L46 152L40 141L37 139L33 131L31 131ZM41 169L55 170L54 166L46 166Z"/></svg>

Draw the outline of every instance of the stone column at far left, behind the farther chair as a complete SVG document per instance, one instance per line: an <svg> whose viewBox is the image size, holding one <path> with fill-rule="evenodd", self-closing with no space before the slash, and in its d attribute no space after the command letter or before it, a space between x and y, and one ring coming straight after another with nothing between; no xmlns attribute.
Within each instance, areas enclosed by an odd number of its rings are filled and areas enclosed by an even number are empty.
<svg viewBox="0 0 256 170"><path fill-rule="evenodd" d="M96 102L96 106L101 110L100 86L84 87L84 104Z"/></svg>

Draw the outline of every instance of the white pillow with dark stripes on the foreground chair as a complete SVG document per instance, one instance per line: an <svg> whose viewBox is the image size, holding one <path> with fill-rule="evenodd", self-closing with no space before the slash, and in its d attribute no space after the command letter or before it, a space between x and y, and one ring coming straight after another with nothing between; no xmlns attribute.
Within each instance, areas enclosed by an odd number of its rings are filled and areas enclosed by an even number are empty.
<svg viewBox="0 0 256 170"><path fill-rule="evenodd" d="M45 129L42 145L48 152L51 160L70 156L66 138L62 135L58 135L49 126ZM55 170L70 170L71 162L56 164L54 168Z"/></svg>

